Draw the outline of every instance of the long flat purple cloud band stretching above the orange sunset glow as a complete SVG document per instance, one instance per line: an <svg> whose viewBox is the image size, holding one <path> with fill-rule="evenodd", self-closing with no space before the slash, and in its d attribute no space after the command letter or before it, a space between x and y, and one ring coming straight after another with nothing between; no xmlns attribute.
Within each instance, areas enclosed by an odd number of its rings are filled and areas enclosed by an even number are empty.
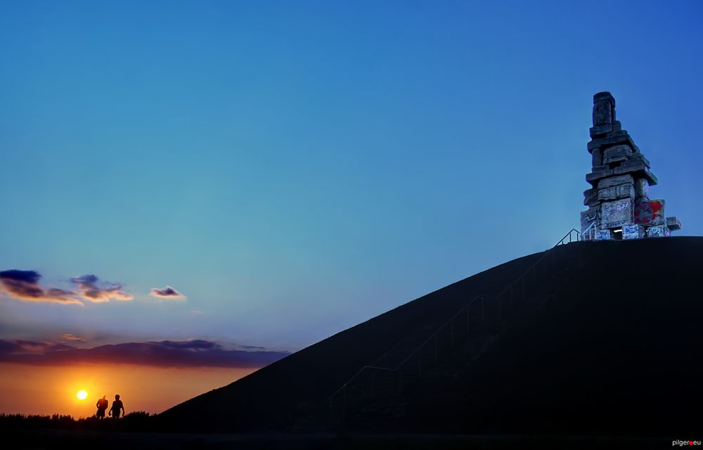
<svg viewBox="0 0 703 450"><path fill-rule="evenodd" d="M125 342L89 349L61 342L0 340L0 362L63 366L77 363L138 364L160 367L259 368L288 356L288 352L224 349L207 340Z"/></svg>

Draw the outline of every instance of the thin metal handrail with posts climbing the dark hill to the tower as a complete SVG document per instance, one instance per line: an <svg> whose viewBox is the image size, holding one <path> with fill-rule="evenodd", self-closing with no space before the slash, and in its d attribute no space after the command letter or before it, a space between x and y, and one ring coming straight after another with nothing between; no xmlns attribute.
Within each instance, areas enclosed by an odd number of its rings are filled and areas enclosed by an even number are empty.
<svg viewBox="0 0 703 450"><path fill-rule="evenodd" d="M594 222L595 223L595 222ZM591 224L593 226L593 224ZM588 229L591 228L591 226L588 227ZM586 231L588 231L586 229ZM514 312L515 307L517 302L526 302L527 301L527 289L528 288L536 288L537 286L537 278L542 278L546 277L548 274L548 269L547 265L552 266L552 270L554 270L557 267L557 248L565 245L567 243L572 243L572 242L578 242L579 240L582 240L583 234L579 233L579 231L576 231L576 229L571 229L568 233L565 234L564 237L562 237L560 240L557 241L553 247L549 248L544 254L539 257L534 264L531 264L529 268L527 268L525 271L520 274L517 278L515 278L512 283L510 283L507 287L505 287L503 290L501 290L498 295L495 297L491 297L491 295L485 294L485 293L479 293L472 297L472 299L467 302L461 309L459 309L449 320L447 320L445 323L443 323L437 330L434 330L434 333L430 334L425 340L423 340L418 347L415 347L408 356L405 357L399 364L397 364L394 367L380 367L380 366L363 366L352 375L347 382L345 382L339 389L337 389L333 394L328 397L328 403L330 405L330 420L332 420L333 413L331 411L333 401L335 400L335 397L337 396L342 396L342 418L341 418L341 423L342 427L344 427L345 420L346 420L346 415L347 415L347 390L349 389L352 384L361 378L363 375L366 373L371 372L371 395L373 397L375 390L373 387L373 380L375 379L374 373L396 373L398 374L398 394L402 394L402 385L401 385L401 380L402 377L400 376L401 370L403 370L410 362L414 359L415 356L418 356L418 378L422 377L423 373L423 359L421 353L423 352L423 349L425 349L428 345L432 345L434 343L434 360L435 362L437 361L438 358L438 344L439 344L439 335L443 331L446 331L449 328L450 335L451 335L451 348L453 349L454 347L454 338L455 338L455 322L458 319L459 316L462 316L463 314L466 314L466 329L467 333L469 331L470 323L471 323L471 314L470 310L472 307L478 307L480 305L480 316L479 320L484 321L485 320L485 306L486 306L486 300L494 300L495 303L495 310L497 311L497 317L494 317L493 319L498 321L498 331L503 330L505 328L505 319L507 319L508 314L512 314ZM434 342L433 342L434 341ZM399 342L400 343L400 342ZM394 345L392 349L395 349L398 345ZM390 349L386 354L392 351ZM382 359L382 357L381 357Z"/></svg>

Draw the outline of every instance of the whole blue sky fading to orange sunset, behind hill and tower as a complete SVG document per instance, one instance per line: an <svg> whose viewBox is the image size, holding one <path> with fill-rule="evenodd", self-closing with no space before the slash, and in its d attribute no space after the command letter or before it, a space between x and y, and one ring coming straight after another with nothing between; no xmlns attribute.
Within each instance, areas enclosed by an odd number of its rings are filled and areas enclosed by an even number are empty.
<svg viewBox="0 0 703 450"><path fill-rule="evenodd" d="M599 91L700 236L700 23L698 1L1 2L0 413L88 415L79 385L163 411L550 248L586 210Z"/></svg>

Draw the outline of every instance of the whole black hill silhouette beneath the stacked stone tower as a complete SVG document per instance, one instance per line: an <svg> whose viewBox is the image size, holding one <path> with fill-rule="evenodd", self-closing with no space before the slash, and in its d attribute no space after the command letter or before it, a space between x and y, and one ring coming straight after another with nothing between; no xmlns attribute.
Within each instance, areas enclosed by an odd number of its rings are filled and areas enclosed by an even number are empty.
<svg viewBox="0 0 703 450"><path fill-rule="evenodd" d="M677 237L515 259L174 406L160 427L691 432L703 400L702 256L703 238Z"/></svg>

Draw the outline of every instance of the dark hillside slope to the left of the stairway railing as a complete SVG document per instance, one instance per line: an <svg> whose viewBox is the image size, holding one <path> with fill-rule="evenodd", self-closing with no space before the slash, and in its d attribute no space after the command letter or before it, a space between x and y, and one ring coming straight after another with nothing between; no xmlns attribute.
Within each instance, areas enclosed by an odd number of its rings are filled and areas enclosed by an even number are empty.
<svg viewBox="0 0 703 450"><path fill-rule="evenodd" d="M402 338L418 333L421 340L429 337L476 293L496 295L542 255L505 262L340 331L231 385L174 406L159 415L159 422L164 430L290 429L302 412L325 404L359 368L399 349ZM328 416L329 409L321 414Z"/></svg>

